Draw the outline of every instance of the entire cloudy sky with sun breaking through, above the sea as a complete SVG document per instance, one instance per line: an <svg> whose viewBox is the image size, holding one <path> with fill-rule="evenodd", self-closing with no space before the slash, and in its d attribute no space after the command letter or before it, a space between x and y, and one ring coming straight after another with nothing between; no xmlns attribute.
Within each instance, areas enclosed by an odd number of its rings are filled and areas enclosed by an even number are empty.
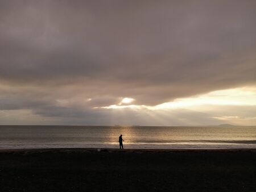
<svg viewBox="0 0 256 192"><path fill-rule="evenodd" d="M256 1L0 1L0 124L256 125Z"/></svg>

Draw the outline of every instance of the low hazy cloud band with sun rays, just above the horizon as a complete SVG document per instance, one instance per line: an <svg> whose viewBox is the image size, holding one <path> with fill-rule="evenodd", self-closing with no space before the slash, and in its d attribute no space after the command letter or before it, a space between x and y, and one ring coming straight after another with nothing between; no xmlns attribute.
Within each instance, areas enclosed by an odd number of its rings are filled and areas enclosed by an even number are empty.
<svg viewBox="0 0 256 192"><path fill-rule="evenodd" d="M1 124L209 126L255 125L255 106L208 106L203 110L162 109L77 109L40 107L33 110L0 110Z"/></svg>

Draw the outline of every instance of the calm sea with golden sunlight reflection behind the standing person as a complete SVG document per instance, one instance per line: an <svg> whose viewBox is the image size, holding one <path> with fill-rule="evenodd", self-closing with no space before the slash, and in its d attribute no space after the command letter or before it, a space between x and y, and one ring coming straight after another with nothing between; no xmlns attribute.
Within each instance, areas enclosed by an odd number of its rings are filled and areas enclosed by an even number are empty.
<svg viewBox="0 0 256 192"><path fill-rule="evenodd" d="M0 126L0 149L256 148L256 127Z"/></svg>

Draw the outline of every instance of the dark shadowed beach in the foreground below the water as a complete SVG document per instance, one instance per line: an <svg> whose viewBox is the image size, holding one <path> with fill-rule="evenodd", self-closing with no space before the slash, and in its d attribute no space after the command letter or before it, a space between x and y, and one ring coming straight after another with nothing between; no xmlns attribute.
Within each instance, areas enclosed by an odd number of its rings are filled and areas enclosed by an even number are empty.
<svg viewBox="0 0 256 192"><path fill-rule="evenodd" d="M256 149L0 151L0 191L256 191Z"/></svg>

